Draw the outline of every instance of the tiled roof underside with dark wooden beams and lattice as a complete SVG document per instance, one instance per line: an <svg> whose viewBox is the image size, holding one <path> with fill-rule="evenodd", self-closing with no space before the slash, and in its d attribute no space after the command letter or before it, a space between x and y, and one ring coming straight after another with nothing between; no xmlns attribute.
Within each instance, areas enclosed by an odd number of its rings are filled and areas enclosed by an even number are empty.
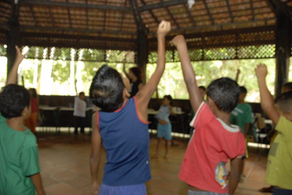
<svg viewBox="0 0 292 195"><path fill-rule="evenodd" d="M276 58L279 94L291 56L291 13L292 0L196 0L191 8L187 0L1 0L0 44L7 45L8 71L13 45L130 50L145 68L157 50L157 26L168 20L167 40L184 34L192 60Z"/></svg>

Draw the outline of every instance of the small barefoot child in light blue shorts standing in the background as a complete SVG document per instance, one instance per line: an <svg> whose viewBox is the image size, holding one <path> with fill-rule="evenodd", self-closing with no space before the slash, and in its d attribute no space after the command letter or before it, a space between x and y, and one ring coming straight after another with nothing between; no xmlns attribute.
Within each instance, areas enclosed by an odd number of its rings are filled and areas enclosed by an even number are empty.
<svg viewBox="0 0 292 195"><path fill-rule="evenodd" d="M152 158L158 158L159 147L162 139L165 140L165 155L164 158L167 159L167 153L170 147L171 140L171 122L169 120L169 115L173 113L172 107L170 106L172 98L170 95L166 95L162 99L162 105L160 106L156 118L158 119L157 126L157 146L156 153Z"/></svg>

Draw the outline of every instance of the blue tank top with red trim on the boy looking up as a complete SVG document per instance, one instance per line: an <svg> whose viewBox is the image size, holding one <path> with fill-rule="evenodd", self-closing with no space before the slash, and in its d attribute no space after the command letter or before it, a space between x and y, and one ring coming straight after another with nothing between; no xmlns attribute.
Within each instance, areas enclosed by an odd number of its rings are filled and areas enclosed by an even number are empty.
<svg viewBox="0 0 292 195"><path fill-rule="evenodd" d="M150 180L148 122L138 117L135 97L115 112L98 112L97 121L107 153L102 183L137 185Z"/></svg>

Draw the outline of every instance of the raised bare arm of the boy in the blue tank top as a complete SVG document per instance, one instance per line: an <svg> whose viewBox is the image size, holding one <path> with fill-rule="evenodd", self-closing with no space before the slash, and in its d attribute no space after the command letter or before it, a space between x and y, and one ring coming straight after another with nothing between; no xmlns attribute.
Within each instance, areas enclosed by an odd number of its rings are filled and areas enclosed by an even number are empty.
<svg viewBox="0 0 292 195"><path fill-rule="evenodd" d="M145 84L145 86L136 94L138 106L138 114L142 120L147 120L147 106L155 92L160 78L165 68L165 35L170 31L170 22L161 21L157 29L158 41L158 59L156 70Z"/></svg>

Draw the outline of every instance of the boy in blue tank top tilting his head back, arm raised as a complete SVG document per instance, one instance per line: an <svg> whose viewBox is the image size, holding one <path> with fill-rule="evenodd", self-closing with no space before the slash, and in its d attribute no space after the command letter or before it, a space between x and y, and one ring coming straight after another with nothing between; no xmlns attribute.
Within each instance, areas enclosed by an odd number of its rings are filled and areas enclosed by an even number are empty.
<svg viewBox="0 0 292 195"><path fill-rule="evenodd" d="M170 29L170 22L160 22L157 29L156 70L133 98L128 98L128 78L115 69L103 65L93 78L90 98L101 110L92 116L92 194L146 194L145 182L151 179L147 106L164 72L165 35ZM101 143L105 148L107 161L99 185Z"/></svg>

